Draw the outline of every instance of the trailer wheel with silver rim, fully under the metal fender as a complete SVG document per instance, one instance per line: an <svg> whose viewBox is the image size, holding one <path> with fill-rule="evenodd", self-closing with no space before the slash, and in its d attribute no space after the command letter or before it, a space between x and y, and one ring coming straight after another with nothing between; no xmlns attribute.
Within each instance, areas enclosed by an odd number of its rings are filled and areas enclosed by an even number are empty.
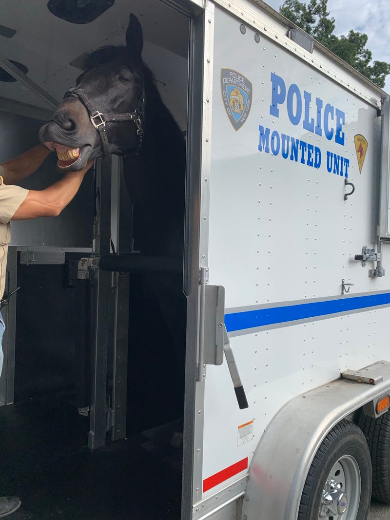
<svg viewBox="0 0 390 520"><path fill-rule="evenodd" d="M367 441L343 420L318 448L303 488L298 520L366 520L371 499Z"/></svg>

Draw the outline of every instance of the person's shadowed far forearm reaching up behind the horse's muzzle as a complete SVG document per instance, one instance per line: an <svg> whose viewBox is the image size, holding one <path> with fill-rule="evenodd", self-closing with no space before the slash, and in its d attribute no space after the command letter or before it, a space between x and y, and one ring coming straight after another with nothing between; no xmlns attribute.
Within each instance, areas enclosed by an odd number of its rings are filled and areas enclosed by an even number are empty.
<svg viewBox="0 0 390 520"><path fill-rule="evenodd" d="M4 169L4 184L18 184L21 180L34 173L49 153L50 150L47 150L43 145L37 145L31 150L22 153L19 157L1 164Z"/></svg>

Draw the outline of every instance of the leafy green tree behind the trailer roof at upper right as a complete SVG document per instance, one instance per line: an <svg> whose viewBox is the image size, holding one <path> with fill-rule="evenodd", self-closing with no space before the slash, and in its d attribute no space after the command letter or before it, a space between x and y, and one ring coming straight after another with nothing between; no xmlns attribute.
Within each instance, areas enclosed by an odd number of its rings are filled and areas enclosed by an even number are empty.
<svg viewBox="0 0 390 520"><path fill-rule="evenodd" d="M285 0L280 12L373 83L381 88L385 86L390 63L372 62L372 53L366 48L367 34L353 30L349 31L348 36L333 34L335 20L329 17L328 0L309 0L308 4Z"/></svg>

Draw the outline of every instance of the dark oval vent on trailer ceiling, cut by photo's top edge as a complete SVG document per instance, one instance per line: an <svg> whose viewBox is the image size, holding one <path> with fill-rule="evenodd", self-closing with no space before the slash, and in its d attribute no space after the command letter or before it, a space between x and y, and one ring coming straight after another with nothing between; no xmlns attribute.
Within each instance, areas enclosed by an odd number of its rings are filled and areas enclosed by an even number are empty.
<svg viewBox="0 0 390 520"><path fill-rule="evenodd" d="M47 8L54 16L71 23L89 23L107 11L115 0L49 0Z"/></svg>

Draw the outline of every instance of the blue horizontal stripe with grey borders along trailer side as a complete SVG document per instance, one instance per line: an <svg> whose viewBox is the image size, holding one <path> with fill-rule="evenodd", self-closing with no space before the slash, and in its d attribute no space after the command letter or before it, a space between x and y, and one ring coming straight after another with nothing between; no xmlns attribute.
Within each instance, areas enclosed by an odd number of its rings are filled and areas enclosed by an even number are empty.
<svg viewBox="0 0 390 520"><path fill-rule="evenodd" d="M255 308L226 309L225 324L229 336L251 334L258 330L334 318L345 314L374 310L390 305L390 292L335 298L315 298L301 302L259 305Z"/></svg>

